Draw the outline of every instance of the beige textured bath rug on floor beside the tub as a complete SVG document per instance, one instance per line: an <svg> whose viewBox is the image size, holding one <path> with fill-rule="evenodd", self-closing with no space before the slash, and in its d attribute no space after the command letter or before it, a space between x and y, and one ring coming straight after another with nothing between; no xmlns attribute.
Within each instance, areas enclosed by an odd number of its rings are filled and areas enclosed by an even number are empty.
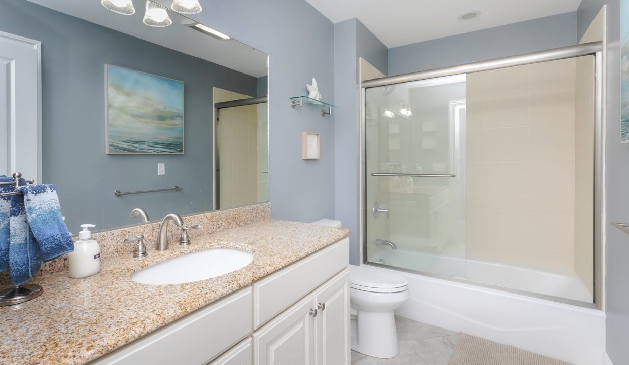
<svg viewBox="0 0 629 365"><path fill-rule="evenodd" d="M481 337L459 334L450 365L571 365L568 362L499 344Z"/></svg>

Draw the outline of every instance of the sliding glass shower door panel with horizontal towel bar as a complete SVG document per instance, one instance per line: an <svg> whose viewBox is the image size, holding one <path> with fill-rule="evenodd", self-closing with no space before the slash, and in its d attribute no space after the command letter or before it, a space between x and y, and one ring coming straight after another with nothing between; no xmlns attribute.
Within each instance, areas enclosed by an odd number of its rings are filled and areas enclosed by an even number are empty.
<svg viewBox="0 0 629 365"><path fill-rule="evenodd" d="M367 261L465 278L465 75L365 92Z"/></svg>

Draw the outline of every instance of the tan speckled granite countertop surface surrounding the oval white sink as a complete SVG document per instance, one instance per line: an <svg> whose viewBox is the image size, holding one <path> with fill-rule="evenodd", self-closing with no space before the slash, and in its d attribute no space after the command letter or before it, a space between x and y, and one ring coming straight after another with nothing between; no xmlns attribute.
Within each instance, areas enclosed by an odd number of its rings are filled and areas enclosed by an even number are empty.
<svg viewBox="0 0 629 365"><path fill-rule="evenodd" d="M33 280L42 296L0 307L2 364L84 364L237 291L318 249L347 237L348 229L265 219L247 226L170 244L148 256L103 260L101 272L72 279L67 271ZM203 281L145 285L131 274L150 264L210 248L253 254L244 268Z"/></svg>

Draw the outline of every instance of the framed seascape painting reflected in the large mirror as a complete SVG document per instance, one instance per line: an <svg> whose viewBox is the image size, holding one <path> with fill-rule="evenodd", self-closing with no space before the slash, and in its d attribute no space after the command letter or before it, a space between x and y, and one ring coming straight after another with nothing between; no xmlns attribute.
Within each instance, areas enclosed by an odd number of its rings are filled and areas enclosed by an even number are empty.
<svg viewBox="0 0 629 365"><path fill-rule="evenodd" d="M106 65L106 153L184 153L184 83Z"/></svg>

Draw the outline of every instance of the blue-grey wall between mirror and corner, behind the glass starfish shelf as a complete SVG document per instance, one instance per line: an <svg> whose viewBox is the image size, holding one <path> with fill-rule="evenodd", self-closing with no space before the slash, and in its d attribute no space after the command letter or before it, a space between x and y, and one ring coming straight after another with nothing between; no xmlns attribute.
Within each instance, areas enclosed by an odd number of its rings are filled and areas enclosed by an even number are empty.
<svg viewBox="0 0 629 365"><path fill-rule="evenodd" d="M336 116L321 117L320 109L311 106L291 109L289 101L304 95L312 77L323 99L335 100L331 21L303 0L210 1L205 8L192 18L269 55L273 217L303 222L334 217ZM321 160L301 159L302 131L321 134Z"/></svg>

